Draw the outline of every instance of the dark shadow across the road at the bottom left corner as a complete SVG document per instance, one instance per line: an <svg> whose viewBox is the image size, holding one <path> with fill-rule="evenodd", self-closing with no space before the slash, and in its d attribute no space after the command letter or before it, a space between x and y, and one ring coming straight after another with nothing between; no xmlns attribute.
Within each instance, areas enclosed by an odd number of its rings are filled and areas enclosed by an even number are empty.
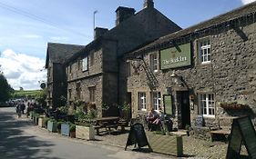
<svg viewBox="0 0 256 159"><path fill-rule="evenodd" d="M15 113L0 110L0 158L59 159L44 156L51 153L50 146L54 144L24 134L23 129L29 128L30 125L26 120L16 119Z"/></svg>

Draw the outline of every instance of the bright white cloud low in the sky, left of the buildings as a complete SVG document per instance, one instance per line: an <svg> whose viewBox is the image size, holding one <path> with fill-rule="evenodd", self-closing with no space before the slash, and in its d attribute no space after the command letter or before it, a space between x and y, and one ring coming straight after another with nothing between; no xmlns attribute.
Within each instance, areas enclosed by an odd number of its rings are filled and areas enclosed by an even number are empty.
<svg viewBox="0 0 256 159"><path fill-rule="evenodd" d="M41 71L45 65L44 59L16 54L7 49L0 56L0 64L8 83L15 89L39 89L38 81L46 81L46 70Z"/></svg>

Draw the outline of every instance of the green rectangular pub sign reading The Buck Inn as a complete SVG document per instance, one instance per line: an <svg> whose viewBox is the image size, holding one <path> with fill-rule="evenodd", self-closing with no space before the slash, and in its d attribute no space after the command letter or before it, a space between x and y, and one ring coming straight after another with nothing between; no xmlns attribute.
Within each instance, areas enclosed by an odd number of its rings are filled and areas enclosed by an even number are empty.
<svg viewBox="0 0 256 159"><path fill-rule="evenodd" d="M176 45L160 51L161 70L191 65L191 45Z"/></svg>

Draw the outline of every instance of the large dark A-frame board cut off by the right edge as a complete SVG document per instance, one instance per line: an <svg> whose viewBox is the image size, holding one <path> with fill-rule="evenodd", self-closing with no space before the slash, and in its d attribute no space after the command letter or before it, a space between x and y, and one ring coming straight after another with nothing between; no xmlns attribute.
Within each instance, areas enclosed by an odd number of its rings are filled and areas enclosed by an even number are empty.
<svg viewBox="0 0 256 159"><path fill-rule="evenodd" d="M244 144L249 158L256 159L256 133L249 116L233 120L226 159L241 158L241 144Z"/></svg>

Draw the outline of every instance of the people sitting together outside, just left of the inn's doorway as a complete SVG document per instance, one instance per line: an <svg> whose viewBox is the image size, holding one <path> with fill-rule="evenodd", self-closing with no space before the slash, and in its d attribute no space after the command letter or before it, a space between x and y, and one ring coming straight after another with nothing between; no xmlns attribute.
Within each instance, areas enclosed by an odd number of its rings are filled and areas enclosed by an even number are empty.
<svg viewBox="0 0 256 159"><path fill-rule="evenodd" d="M163 125L163 122L165 120L165 114L160 108L159 111L156 111L154 108L152 108L147 115L147 122L148 122L148 130L154 130L159 125L160 127Z"/></svg>

